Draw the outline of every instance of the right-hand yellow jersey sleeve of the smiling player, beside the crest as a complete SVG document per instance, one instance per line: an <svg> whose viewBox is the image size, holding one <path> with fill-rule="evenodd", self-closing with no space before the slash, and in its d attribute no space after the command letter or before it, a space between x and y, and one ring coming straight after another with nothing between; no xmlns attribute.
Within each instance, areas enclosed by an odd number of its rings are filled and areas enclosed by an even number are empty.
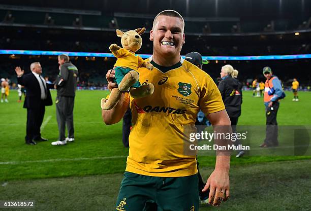
<svg viewBox="0 0 311 211"><path fill-rule="evenodd" d="M205 115L225 109L222 95L209 75L204 76L202 81L199 107Z"/></svg>

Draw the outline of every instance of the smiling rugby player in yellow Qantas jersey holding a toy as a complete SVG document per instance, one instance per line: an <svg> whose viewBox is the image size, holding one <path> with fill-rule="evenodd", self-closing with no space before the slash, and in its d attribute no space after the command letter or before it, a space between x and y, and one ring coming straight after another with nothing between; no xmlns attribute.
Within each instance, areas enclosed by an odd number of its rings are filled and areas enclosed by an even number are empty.
<svg viewBox="0 0 311 211"><path fill-rule="evenodd" d="M230 119L210 76L180 56L185 43L183 29L179 13L159 13L149 38L153 54L147 60L153 64L153 71L138 69L140 83L154 84L154 93L135 100L122 93L113 109L102 110L107 125L119 122L129 104L133 115L130 151L116 210L199 209L196 156L183 152L183 126L194 125L200 110L216 126L216 132L218 125L230 125ZM109 89L117 88L113 77L114 72L108 71ZM210 189L209 203L214 206L229 197L229 166L230 155L217 152L215 169L202 190Z"/></svg>

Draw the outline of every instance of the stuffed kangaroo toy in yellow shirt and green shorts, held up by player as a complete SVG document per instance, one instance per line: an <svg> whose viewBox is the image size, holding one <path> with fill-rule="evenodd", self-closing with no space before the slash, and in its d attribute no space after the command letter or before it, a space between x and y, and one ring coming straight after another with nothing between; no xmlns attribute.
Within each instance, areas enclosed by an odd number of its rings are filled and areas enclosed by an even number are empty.
<svg viewBox="0 0 311 211"><path fill-rule="evenodd" d="M104 110L112 109L120 99L122 92L130 92L131 97L141 98L149 96L154 91L151 83L141 85L139 83L139 67L145 67L150 71L153 65L144 61L140 56L135 56L135 52L141 48L142 39L140 34L145 32L145 28L138 28L127 32L116 29L116 34L121 38L122 47L116 44L110 45L109 49L117 58L114 64L115 80L118 89L112 89L108 99L101 100L101 108Z"/></svg>

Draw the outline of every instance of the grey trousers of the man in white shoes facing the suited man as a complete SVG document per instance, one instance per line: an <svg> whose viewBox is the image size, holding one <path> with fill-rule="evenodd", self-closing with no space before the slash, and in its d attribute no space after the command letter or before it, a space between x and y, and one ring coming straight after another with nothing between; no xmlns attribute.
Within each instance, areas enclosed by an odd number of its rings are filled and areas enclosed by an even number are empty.
<svg viewBox="0 0 311 211"><path fill-rule="evenodd" d="M74 138L73 108L75 97L57 96L56 98L56 120L58 125L58 140L65 140L65 129L67 126L68 137Z"/></svg>

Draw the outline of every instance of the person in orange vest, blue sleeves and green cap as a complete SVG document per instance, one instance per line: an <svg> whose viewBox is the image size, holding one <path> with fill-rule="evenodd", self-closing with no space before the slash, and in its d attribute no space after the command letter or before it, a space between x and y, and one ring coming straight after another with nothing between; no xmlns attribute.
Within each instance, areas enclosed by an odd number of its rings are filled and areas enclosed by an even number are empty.
<svg viewBox="0 0 311 211"><path fill-rule="evenodd" d="M260 147L276 147L278 146L276 115L279 108L279 99L284 98L285 93L282 89L281 82L272 74L270 67L266 66L263 68L263 75L267 79L264 93L264 103L266 107L266 138Z"/></svg>

